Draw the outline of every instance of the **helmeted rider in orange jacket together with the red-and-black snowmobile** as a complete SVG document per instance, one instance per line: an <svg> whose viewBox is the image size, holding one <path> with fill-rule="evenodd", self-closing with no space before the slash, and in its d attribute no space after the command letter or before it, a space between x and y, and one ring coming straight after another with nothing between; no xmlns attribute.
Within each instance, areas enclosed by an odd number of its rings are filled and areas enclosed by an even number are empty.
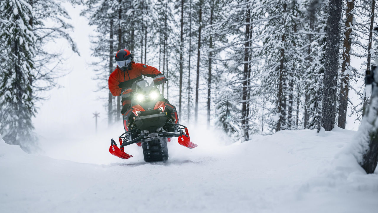
<svg viewBox="0 0 378 213"><path fill-rule="evenodd" d="M111 140L109 152L127 159L133 156L125 153L124 147L136 143L143 148L144 160L151 162L168 159L167 141L172 137L178 137L178 143L189 149L197 147L187 128L178 124L176 108L159 92L158 85L167 81L165 75L155 67L135 63L126 49L116 53L115 61L109 89L113 96L122 96L125 133L118 137L119 147Z"/></svg>

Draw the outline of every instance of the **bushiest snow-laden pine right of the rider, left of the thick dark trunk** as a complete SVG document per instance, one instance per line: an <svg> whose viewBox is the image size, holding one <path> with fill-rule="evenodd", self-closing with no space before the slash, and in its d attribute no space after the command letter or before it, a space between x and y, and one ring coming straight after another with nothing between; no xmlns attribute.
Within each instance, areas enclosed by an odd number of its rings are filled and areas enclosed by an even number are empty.
<svg viewBox="0 0 378 213"><path fill-rule="evenodd" d="M264 72L260 75L262 84L258 89L265 92L265 101L271 103L268 111L273 119L267 122L275 126L276 131L296 125L292 119L293 108L295 99L300 98L297 91L301 89L297 88L298 84L294 88L294 82L302 79L305 67L304 55L299 51L302 39L296 33L301 27L299 6L296 1L276 1L273 5L262 2L262 11L258 11L267 14L258 32L263 45L254 53L254 57L265 61L260 68Z"/></svg>

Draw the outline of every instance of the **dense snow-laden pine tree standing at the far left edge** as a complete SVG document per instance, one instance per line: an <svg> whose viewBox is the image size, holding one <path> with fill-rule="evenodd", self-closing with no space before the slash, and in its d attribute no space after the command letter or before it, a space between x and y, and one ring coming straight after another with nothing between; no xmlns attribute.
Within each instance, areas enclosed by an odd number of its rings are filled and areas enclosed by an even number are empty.
<svg viewBox="0 0 378 213"><path fill-rule="evenodd" d="M8 57L1 67L0 129L7 143L30 150L36 143L31 123L36 113L31 85L35 54L32 7L24 1L9 0L1 2L0 8L7 20L0 25L0 39L3 41L1 49L8 49L3 50Z"/></svg>

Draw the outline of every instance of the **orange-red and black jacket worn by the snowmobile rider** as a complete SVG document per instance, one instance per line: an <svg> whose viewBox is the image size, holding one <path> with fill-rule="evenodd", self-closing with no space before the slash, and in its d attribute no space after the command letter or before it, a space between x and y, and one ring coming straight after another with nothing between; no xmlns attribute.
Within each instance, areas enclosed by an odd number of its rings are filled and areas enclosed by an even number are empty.
<svg viewBox="0 0 378 213"><path fill-rule="evenodd" d="M124 72L117 66L112 74L110 74L109 89L113 96L120 96L123 89L131 88L134 81L141 79L142 75L153 78L159 74L161 74L161 72L155 67L146 64L137 64L133 61L130 70Z"/></svg>

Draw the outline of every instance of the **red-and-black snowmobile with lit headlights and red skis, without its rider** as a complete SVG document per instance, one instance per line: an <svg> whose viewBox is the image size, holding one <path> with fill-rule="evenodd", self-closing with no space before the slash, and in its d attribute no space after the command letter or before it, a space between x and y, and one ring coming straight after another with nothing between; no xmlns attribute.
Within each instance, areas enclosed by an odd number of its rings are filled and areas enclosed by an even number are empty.
<svg viewBox="0 0 378 213"><path fill-rule="evenodd" d="M136 143L143 149L144 161L168 160L167 141L178 137L178 143L189 149L197 147L190 141L186 126L178 124L176 108L160 93L153 78L142 78L133 83L131 107L124 113L125 133L118 137L117 143L111 140L109 152L116 157L128 159L133 157L124 152L124 147Z"/></svg>

